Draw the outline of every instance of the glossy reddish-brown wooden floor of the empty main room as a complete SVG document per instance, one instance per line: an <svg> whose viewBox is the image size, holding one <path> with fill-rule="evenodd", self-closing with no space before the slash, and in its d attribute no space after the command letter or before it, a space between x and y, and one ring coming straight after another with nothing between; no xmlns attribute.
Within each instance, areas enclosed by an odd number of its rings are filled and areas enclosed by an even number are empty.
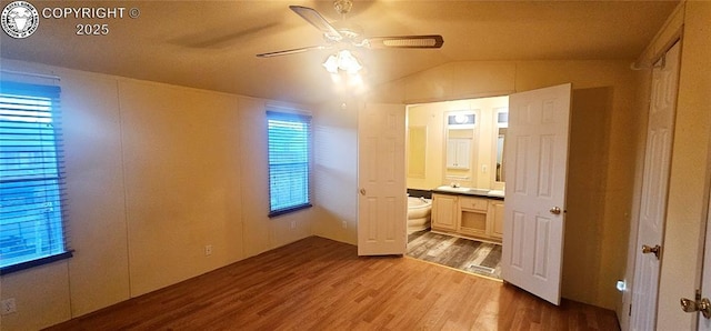
<svg viewBox="0 0 711 331"><path fill-rule="evenodd" d="M561 307L412 258L359 258L311 237L49 330L619 330L614 312Z"/></svg>

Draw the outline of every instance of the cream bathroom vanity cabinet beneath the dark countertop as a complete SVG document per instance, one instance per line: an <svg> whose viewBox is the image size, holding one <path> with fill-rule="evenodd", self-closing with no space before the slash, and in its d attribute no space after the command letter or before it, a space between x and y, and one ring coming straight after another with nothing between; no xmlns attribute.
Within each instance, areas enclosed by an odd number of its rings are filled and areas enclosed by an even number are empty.
<svg viewBox="0 0 711 331"><path fill-rule="evenodd" d="M499 243L503 232L503 200L433 193L432 231Z"/></svg>

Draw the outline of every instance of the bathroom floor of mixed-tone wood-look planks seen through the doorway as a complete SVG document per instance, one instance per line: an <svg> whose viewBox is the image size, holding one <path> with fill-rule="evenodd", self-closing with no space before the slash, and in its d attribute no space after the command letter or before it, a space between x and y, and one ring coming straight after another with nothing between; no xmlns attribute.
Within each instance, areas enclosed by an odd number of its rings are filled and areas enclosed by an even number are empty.
<svg viewBox="0 0 711 331"><path fill-rule="evenodd" d="M500 244L423 230L408 235L407 255L474 274L501 279Z"/></svg>

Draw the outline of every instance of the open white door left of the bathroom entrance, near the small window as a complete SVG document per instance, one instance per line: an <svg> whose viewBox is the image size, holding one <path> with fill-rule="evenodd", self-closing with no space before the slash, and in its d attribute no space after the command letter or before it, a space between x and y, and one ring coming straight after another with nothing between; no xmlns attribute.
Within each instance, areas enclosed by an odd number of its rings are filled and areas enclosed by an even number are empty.
<svg viewBox="0 0 711 331"><path fill-rule="evenodd" d="M358 254L404 254L407 184L403 104L358 112Z"/></svg>

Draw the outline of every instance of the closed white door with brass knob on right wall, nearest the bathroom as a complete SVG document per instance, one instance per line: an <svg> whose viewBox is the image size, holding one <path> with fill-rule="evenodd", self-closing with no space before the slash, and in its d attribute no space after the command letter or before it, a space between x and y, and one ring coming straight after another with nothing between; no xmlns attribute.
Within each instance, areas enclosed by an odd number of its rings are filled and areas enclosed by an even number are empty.
<svg viewBox="0 0 711 331"><path fill-rule="evenodd" d="M642 199L637 233L630 330L654 330L662 238L671 164L680 46L673 46L652 70ZM643 245L647 249L643 249ZM658 252L654 253L654 250Z"/></svg>

